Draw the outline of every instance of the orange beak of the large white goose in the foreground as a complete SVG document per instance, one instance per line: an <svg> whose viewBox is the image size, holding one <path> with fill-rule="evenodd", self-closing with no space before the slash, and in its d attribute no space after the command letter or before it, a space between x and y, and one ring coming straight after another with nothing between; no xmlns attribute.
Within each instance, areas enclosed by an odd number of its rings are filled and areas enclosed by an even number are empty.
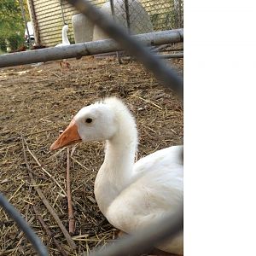
<svg viewBox="0 0 256 256"><path fill-rule="evenodd" d="M53 151L73 143L79 143L81 141L82 139L79 136L78 126L75 124L75 121L72 120L71 123L67 126L66 130L63 131L60 137L56 139L55 143L50 146L49 150Z"/></svg>

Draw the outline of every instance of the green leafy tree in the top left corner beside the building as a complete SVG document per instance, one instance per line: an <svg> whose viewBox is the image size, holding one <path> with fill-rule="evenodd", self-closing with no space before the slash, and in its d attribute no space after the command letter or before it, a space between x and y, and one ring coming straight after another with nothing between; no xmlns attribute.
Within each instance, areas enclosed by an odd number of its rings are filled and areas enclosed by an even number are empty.
<svg viewBox="0 0 256 256"><path fill-rule="evenodd" d="M23 0L24 9L27 15L26 0ZM4 48L6 40L9 41L11 49L17 49L24 44L25 24L22 19L19 0L0 1L0 49ZM4 42L4 43L3 43Z"/></svg>

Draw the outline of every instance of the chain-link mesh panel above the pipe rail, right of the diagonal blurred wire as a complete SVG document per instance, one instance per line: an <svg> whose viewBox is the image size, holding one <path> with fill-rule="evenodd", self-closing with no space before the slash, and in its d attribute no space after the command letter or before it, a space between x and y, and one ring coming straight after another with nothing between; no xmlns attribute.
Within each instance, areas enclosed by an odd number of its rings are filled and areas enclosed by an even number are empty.
<svg viewBox="0 0 256 256"><path fill-rule="evenodd" d="M110 0L114 20L131 34L183 27L183 0Z"/></svg>

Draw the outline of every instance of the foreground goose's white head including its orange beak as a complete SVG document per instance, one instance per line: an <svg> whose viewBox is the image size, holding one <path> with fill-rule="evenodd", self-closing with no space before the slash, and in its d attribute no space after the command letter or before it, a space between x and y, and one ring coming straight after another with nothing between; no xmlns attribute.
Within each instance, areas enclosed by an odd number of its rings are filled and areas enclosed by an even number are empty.
<svg viewBox="0 0 256 256"><path fill-rule="evenodd" d="M118 122L113 109L108 104L98 102L80 109L50 150L73 143L109 140L116 131Z"/></svg>

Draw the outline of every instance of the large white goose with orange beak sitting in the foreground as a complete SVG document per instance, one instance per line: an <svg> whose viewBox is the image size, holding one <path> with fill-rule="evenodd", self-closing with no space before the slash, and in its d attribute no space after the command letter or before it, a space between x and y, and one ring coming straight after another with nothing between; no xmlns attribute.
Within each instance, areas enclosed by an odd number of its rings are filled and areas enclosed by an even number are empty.
<svg viewBox="0 0 256 256"><path fill-rule="evenodd" d="M94 192L110 224L133 233L177 211L183 202L183 146L161 149L135 163L137 125L115 97L82 108L50 149L102 140L106 141L105 159ZM183 254L183 232L158 248Z"/></svg>

